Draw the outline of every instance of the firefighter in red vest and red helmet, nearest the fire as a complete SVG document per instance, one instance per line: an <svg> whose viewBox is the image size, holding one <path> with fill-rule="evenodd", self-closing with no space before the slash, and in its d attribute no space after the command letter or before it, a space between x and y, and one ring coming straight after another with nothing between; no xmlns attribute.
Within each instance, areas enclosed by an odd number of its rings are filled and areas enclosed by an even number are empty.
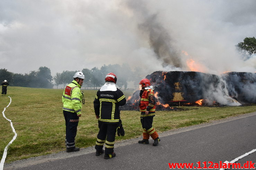
<svg viewBox="0 0 256 170"><path fill-rule="evenodd" d="M154 140L153 146L157 146L160 142L157 131L152 127L153 117L156 112L155 96L153 86L151 86L148 79L140 81L142 90L140 91L140 121L143 128L143 139L139 143L149 144L149 136Z"/></svg>

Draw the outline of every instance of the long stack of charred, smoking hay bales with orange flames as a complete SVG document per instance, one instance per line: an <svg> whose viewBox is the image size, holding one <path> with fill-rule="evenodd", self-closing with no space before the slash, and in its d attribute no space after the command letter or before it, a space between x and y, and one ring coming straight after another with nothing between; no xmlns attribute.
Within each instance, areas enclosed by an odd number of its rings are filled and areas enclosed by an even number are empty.
<svg viewBox="0 0 256 170"><path fill-rule="evenodd" d="M146 78L155 88L157 110L171 110L175 105L256 103L256 73L230 72L217 76L194 71L156 71ZM121 109L139 110L139 93L136 91Z"/></svg>

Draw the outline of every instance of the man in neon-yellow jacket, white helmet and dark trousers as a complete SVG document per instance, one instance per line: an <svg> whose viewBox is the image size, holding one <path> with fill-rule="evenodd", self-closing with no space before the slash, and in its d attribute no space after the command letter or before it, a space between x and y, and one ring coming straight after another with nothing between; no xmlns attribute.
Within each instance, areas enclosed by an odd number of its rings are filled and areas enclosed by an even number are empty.
<svg viewBox="0 0 256 170"><path fill-rule="evenodd" d="M78 71L73 76L74 80L66 86L63 95L63 114L66 123L66 146L67 152L76 152L80 148L75 147L75 137L77 135L77 126L79 117L81 117L83 93L80 88L85 79L85 75Z"/></svg>

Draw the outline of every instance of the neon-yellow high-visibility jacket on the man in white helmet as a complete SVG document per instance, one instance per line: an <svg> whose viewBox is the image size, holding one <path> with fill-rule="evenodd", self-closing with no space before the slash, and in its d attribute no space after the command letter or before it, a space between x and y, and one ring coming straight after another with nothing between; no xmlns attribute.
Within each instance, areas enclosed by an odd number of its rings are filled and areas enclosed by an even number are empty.
<svg viewBox="0 0 256 170"><path fill-rule="evenodd" d="M73 80L68 84L68 86L66 86L62 95L63 110L81 114L82 93L80 88L81 86L76 80Z"/></svg>

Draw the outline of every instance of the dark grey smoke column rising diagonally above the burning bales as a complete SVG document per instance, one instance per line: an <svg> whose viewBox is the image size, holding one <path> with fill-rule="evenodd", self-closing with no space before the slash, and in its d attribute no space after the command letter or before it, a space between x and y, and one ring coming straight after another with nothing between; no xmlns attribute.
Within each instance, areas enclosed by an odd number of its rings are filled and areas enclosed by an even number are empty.
<svg viewBox="0 0 256 170"><path fill-rule="evenodd" d="M157 59L162 62L163 67L182 68L180 55L171 45L171 36L169 32L159 22L158 14L151 14L145 1L127 1L127 5L139 17L138 29L143 38L149 40L150 47L156 54Z"/></svg>

